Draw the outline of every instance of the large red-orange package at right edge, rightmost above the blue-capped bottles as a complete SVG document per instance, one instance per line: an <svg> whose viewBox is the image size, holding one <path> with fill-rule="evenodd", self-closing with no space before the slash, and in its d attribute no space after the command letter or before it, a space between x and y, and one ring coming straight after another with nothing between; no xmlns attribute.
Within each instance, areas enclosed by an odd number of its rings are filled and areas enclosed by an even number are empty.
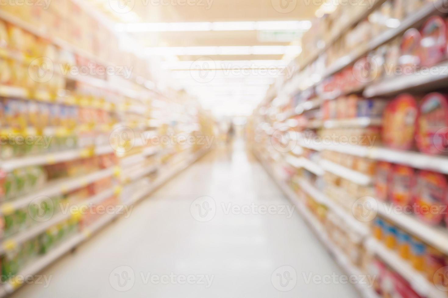
<svg viewBox="0 0 448 298"><path fill-rule="evenodd" d="M444 175L421 171L415 186L414 213L424 222L437 225L444 218L448 183Z"/></svg>

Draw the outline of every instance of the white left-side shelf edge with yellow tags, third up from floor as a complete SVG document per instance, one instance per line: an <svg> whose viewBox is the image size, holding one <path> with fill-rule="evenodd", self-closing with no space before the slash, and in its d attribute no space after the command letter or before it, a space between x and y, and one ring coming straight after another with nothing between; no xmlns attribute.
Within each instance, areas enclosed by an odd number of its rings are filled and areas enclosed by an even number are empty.
<svg viewBox="0 0 448 298"><path fill-rule="evenodd" d="M112 176L117 171L118 169L116 167L113 167L93 172L81 177L64 178L55 182L50 182L43 189L40 189L32 194L27 194L25 196L18 197L13 201L3 203L0 206L0 214L9 214L14 210L26 208L30 204L30 202L36 202L36 199L39 197L42 197L42 199L46 197L54 197L60 194L67 193L71 190L87 186L96 180Z"/></svg>

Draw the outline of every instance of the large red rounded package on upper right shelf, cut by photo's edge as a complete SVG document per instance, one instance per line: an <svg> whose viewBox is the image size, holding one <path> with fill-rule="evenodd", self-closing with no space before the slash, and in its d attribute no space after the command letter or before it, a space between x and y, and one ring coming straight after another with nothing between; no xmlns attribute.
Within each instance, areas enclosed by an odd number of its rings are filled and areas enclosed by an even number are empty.
<svg viewBox="0 0 448 298"><path fill-rule="evenodd" d="M422 27L421 63L433 66L447 54L447 24L442 17L434 16Z"/></svg>

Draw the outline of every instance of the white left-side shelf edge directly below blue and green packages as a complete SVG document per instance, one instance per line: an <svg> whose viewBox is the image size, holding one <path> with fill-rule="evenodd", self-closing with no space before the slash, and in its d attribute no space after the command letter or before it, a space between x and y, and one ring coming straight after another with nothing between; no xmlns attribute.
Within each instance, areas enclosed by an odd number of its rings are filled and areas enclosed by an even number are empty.
<svg viewBox="0 0 448 298"><path fill-rule="evenodd" d="M46 153L42 155L26 156L15 159L1 161L1 168L6 172L11 172L16 168L38 166L44 164L56 164L69 160L86 158L94 155L104 155L114 152L110 145L94 148L81 148L60 152Z"/></svg>

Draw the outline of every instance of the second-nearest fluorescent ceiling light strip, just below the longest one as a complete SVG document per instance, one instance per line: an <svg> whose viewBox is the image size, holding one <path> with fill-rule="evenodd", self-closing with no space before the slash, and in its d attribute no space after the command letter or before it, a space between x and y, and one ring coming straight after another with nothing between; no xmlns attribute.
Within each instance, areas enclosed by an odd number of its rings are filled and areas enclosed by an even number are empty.
<svg viewBox="0 0 448 298"><path fill-rule="evenodd" d="M300 46L156 46L146 48L148 55L299 55Z"/></svg>

